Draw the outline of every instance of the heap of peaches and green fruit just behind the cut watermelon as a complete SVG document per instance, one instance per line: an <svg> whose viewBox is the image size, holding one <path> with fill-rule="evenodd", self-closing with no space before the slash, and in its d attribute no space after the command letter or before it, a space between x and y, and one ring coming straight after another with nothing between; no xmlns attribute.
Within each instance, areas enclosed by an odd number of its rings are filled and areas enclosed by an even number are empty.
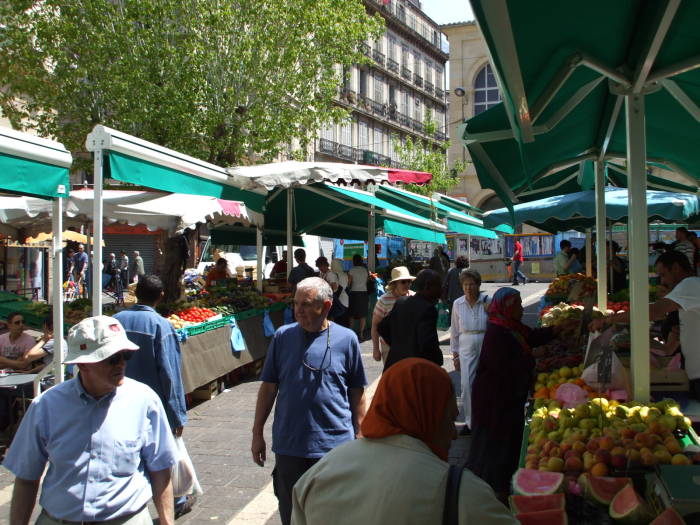
<svg viewBox="0 0 700 525"><path fill-rule="evenodd" d="M572 409L551 401L533 413L525 467L607 476L630 467L689 465L676 437L689 428L673 400L641 405L595 398Z"/></svg>

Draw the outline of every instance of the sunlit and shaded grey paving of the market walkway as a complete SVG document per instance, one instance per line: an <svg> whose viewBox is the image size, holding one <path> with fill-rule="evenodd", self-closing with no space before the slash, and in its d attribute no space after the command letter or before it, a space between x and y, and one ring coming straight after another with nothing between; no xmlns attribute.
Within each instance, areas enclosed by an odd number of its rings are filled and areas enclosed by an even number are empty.
<svg viewBox="0 0 700 525"><path fill-rule="evenodd" d="M493 295L503 284L484 283L484 293ZM534 324L536 306L547 284L531 283L520 286L526 308L524 321ZM444 339L447 333L441 332ZM452 367L449 347L444 345L445 367L459 394L459 375ZM372 359L371 343L362 343L363 362L367 379L376 387L381 365ZM274 460L269 452L272 416L266 425L268 462L258 467L250 454L251 427L259 382L240 384L225 391L188 413L189 424L184 437L194 462L199 481L204 489L193 511L179 520L178 525L249 524L273 525L280 523L277 500L272 493L271 473ZM370 391L370 394L372 392ZM462 461L469 450L469 438L456 440L450 450L450 462ZM12 476L0 469L0 525L9 523L9 502L12 495ZM35 513L36 514L36 513Z"/></svg>

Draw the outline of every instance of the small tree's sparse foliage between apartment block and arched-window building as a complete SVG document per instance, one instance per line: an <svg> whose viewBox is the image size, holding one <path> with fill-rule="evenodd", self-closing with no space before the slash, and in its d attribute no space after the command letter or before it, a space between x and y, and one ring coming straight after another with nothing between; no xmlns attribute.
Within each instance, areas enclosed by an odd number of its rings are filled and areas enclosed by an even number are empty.
<svg viewBox="0 0 700 525"><path fill-rule="evenodd" d="M423 123L427 135L435 134L435 122L428 115ZM409 184L406 189L420 195L432 195L433 193L446 194L452 187L459 183L459 173L464 171L465 163L461 160L454 166L448 166L447 149L449 143L441 144L435 148L433 143L423 139L407 137L405 143L395 141L395 151L399 163L407 169L432 173L433 178L428 184L419 186Z"/></svg>

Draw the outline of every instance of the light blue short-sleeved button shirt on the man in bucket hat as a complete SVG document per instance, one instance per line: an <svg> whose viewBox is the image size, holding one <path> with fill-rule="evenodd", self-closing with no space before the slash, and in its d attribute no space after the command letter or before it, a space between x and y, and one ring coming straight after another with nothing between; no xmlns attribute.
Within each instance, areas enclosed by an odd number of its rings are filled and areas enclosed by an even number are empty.
<svg viewBox="0 0 700 525"><path fill-rule="evenodd" d="M32 402L3 465L38 480L48 462L41 506L69 521L107 521L141 509L151 499L146 471L170 468L175 441L158 396L124 379L95 399L78 377Z"/></svg>

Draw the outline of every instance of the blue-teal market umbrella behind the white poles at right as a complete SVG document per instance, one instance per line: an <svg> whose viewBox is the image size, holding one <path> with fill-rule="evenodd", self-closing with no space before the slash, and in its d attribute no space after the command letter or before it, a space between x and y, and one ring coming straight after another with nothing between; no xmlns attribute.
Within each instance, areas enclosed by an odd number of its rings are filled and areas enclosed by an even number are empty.
<svg viewBox="0 0 700 525"><path fill-rule="evenodd" d="M650 221L688 221L700 213L698 197L687 193L647 191L647 210ZM626 189L605 188L605 215L614 222L627 222L629 196ZM501 208L484 214L484 225L527 223L555 233L566 230L591 228L596 221L595 192L593 190L557 195L528 203L517 204L513 212Z"/></svg>

